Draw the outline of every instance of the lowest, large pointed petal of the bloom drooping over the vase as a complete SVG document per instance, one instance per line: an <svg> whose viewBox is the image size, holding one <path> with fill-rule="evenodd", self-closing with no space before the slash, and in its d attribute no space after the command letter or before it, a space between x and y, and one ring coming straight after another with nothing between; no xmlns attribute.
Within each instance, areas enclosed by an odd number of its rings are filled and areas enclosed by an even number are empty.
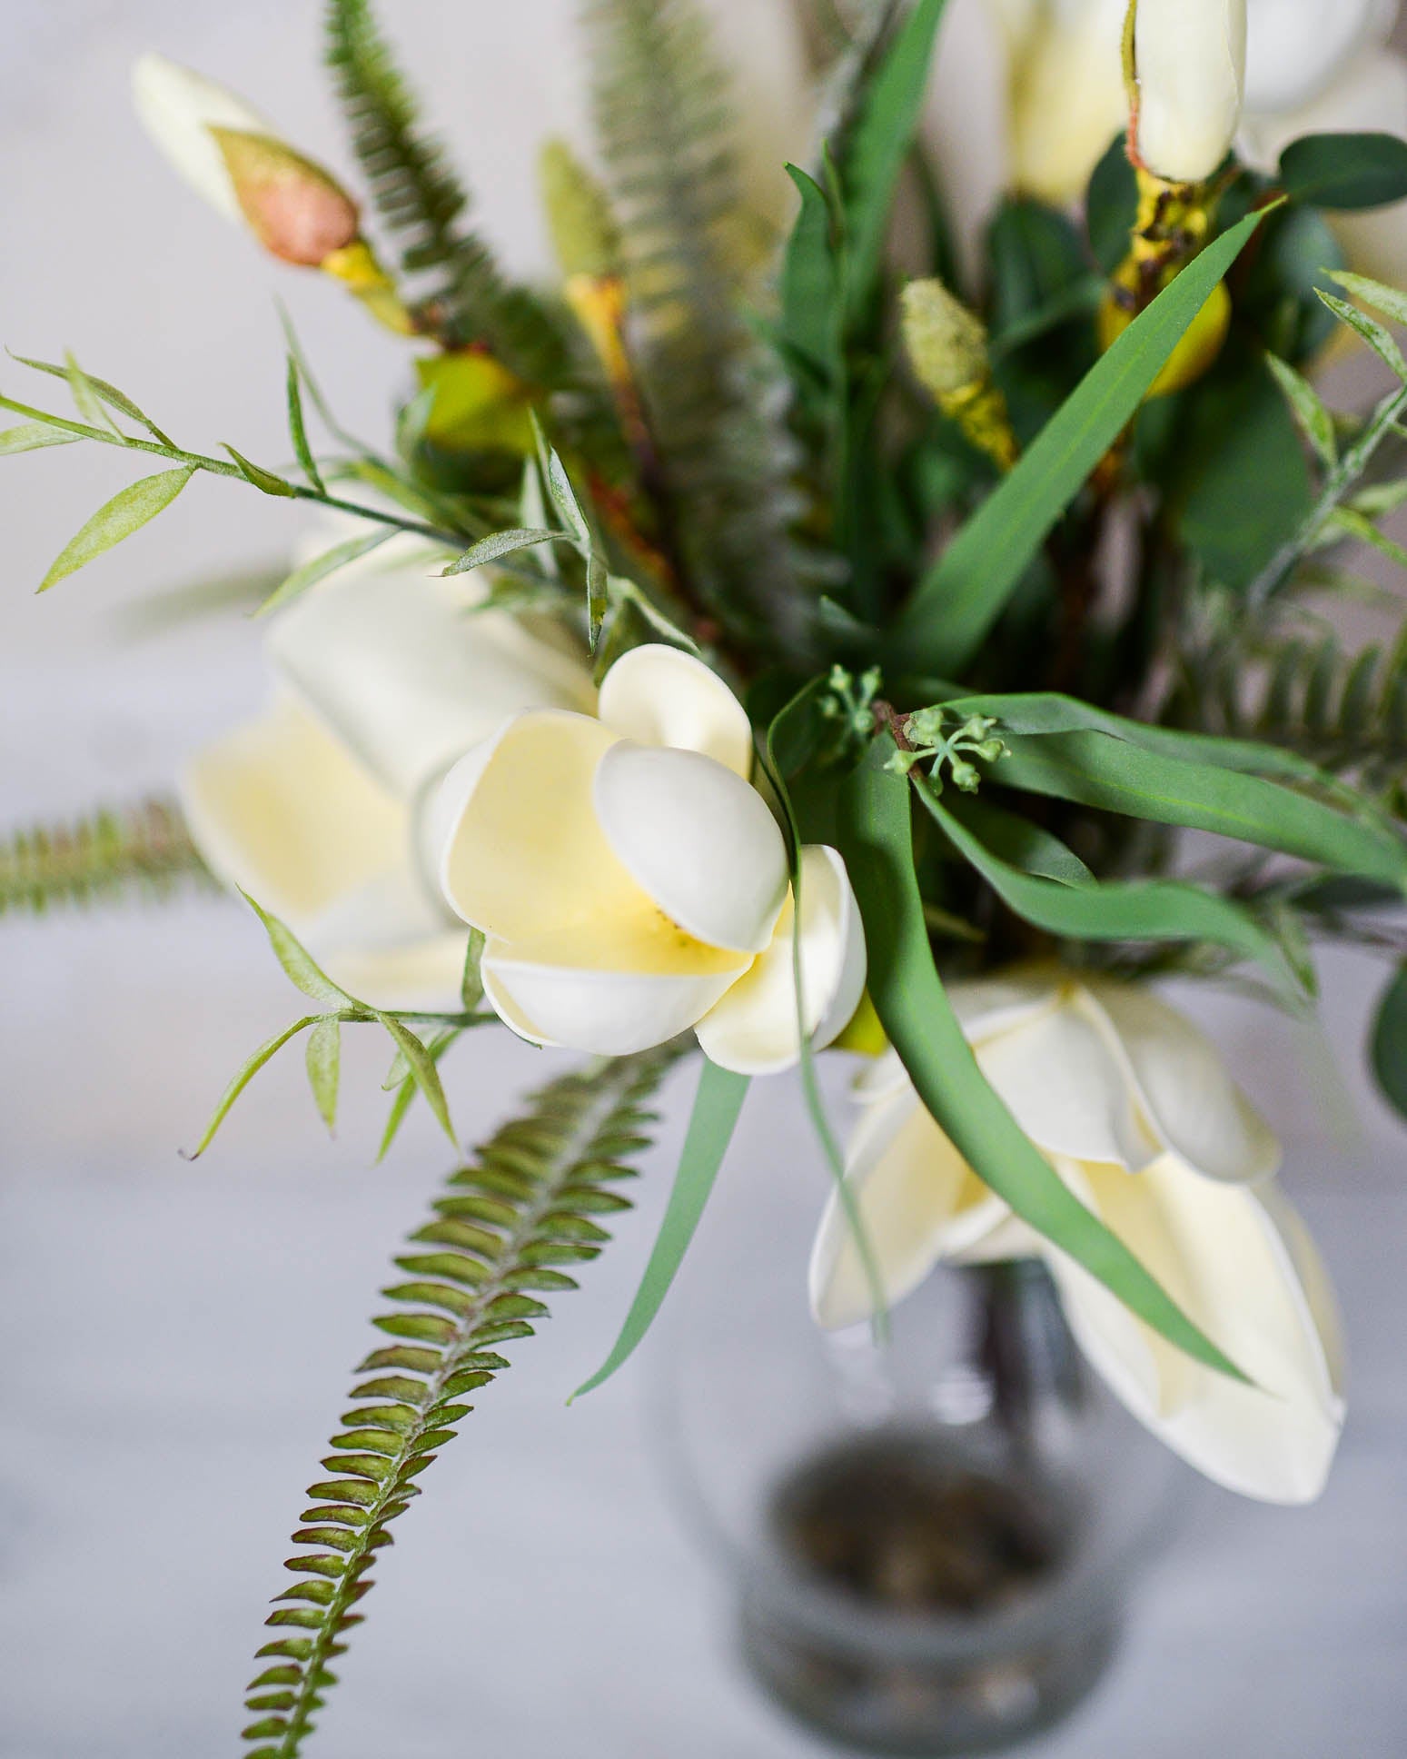
<svg viewBox="0 0 1407 1759"><path fill-rule="evenodd" d="M1157 1398L1133 1376L1112 1377L1113 1390L1161 1441L1228 1490L1265 1502L1317 1497L1344 1423L1331 1321L1324 1330L1319 1317L1326 1284L1317 1261L1305 1279L1275 1208L1258 1191L1201 1179L1175 1156L1136 1177L1085 1171L1103 1221L1254 1383L1203 1369L1134 1321ZM1104 1369L1110 1328L1126 1319L1112 1316L1108 1291L1087 1272L1059 1254L1052 1261L1071 1330Z"/></svg>

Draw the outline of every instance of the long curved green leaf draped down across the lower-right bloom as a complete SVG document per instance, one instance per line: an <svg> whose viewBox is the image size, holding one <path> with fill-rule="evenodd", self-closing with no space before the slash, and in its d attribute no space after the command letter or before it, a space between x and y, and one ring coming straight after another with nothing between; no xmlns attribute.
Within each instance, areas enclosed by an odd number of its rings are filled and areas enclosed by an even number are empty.
<svg viewBox="0 0 1407 1759"><path fill-rule="evenodd" d="M1243 1381L1129 1249L1080 1203L988 1085L943 989L913 871L909 783L876 741L841 790L842 853L869 948L869 992L923 1105L1011 1210L1083 1265L1145 1325L1196 1361ZM1076 894L1068 894L1076 895Z"/></svg>

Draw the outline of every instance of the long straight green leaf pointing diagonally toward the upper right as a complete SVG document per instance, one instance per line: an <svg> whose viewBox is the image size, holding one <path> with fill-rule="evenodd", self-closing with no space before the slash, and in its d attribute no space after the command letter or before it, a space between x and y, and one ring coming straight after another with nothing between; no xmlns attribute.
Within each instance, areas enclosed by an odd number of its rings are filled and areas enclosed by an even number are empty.
<svg viewBox="0 0 1407 1759"><path fill-rule="evenodd" d="M1140 313L920 580L900 614L899 668L960 672L1010 602L1046 533L1122 433L1212 288L1240 255L1259 209L1219 239Z"/></svg>

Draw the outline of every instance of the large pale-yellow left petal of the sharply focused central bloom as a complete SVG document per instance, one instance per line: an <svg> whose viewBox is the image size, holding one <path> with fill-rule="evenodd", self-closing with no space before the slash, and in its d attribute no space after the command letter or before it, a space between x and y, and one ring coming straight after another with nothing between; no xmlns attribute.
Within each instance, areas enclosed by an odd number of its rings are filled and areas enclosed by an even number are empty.
<svg viewBox="0 0 1407 1759"><path fill-rule="evenodd" d="M448 772L426 844L450 908L505 941L649 915L591 804L616 735L584 714L519 714Z"/></svg>

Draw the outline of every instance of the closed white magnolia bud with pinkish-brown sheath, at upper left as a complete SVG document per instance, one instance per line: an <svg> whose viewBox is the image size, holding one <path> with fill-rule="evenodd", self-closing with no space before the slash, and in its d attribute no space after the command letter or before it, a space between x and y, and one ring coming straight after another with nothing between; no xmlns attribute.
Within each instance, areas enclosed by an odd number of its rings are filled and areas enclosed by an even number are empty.
<svg viewBox="0 0 1407 1759"><path fill-rule="evenodd" d="M132 74L137 116L185 181L274 257L320 267L357 239L357 204L320 165L213 79L144 55Z"/></svg>

